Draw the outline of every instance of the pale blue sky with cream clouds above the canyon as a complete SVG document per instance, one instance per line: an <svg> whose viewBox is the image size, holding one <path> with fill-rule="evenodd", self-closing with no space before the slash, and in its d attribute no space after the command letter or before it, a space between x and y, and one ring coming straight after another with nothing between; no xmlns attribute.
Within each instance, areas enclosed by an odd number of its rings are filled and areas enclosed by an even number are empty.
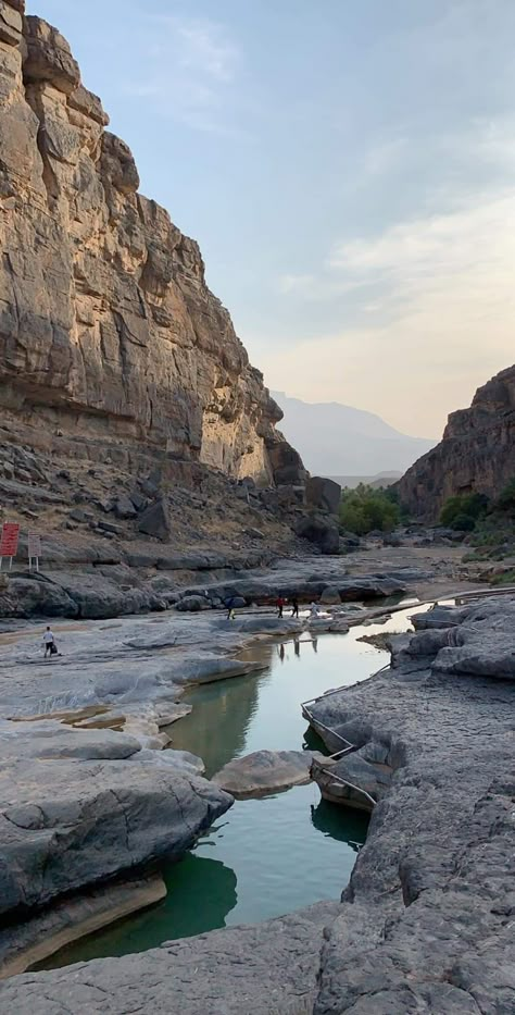
<svg viewBox="0 0 515 1015"><path fill-rule="evenodd" d="M417 436L515 357L513 0L28 0L269 387Z"/></svg>

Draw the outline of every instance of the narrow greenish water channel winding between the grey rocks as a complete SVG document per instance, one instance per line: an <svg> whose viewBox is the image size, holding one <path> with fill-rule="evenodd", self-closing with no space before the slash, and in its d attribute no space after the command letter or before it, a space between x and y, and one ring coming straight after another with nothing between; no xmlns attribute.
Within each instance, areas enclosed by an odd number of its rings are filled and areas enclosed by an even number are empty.
<svg viewBox="0 0 515 1015"><path fill-rule="evenodd" d="M266 668L259 674L192 689L191 715L169 729L173 746L200 755L211 777L252 751L324 750L306 730L300 703L365 680L388 655L360 642L364 634L405 631L411 607L381 624L272 643L244 653ZM338 899L365 841L368 819L321 800L314 783L261 800L236 801L197 846L164 869L167 896L158 906L84 939L43 968L124 955L175 938L279 916Z"/></svg>

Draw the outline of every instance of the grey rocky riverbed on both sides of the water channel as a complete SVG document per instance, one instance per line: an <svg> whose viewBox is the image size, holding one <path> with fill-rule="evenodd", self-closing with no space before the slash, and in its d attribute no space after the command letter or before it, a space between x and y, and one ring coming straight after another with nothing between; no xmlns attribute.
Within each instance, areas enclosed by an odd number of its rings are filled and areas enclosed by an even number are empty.
<svg viewBox="0 0 515 1015"><path fill-rule="evenodd" d="M349 581L327 565L328 585ZM404 571L409 594L420 574ZM367 580L401 583L385 570ZM330 609L315 627L344 630L356 616L354 604ZM124 1015L130 994L142 1012L197 1015L511 1012L514 620L505 597L420 615L415 635L393 639L392 669L312 706L329 748L341 740L326 727L391 769L341 905L15 976L0 1006ZM63 654L45 663L40 628L11 622L0 635L4 975L41 957L41 938L62 943L80 921L105 923L105 899L122 915L131 894L134 906L160 898L152 868L231 804L199 759L173 750L184 688L248 672L242 646L303 623L262 609L234 622L209 609L58 623ZM359 779L359 758L337 763L340 776L354 765ZM216 980L191 973L208 967Z"/></svg>

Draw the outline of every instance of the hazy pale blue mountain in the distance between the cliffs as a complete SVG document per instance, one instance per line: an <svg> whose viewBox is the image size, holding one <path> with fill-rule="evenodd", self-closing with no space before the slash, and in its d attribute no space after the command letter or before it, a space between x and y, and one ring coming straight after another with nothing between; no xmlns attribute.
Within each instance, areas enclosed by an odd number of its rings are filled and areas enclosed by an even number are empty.
<svg viewBox="0 0 515 1015"><path fill-rule="evenodd" d="M312 405L284 392L271 394L285 413L279 429L316 475L359 482L377 479L377 473L404 473L438 443L400 433L363 409L337 401Z"/></svg>

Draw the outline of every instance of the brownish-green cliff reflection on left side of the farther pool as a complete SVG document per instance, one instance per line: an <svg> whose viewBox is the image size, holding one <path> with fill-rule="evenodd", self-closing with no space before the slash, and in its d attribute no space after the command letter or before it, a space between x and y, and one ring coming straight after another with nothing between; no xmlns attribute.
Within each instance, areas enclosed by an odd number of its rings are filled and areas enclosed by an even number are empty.
<svg viewBox="0 0 515 1015"><path fill-rule="evenodd" d="M272 645L259 645L240 653L238 658L266 665L272 652ZM169 727L171 746L203 758L206 777L211 778L244 748L247 730L258 710L260 686L269 679L271 673L265 670L192 689L184 701L193 710Z"/></svg>

